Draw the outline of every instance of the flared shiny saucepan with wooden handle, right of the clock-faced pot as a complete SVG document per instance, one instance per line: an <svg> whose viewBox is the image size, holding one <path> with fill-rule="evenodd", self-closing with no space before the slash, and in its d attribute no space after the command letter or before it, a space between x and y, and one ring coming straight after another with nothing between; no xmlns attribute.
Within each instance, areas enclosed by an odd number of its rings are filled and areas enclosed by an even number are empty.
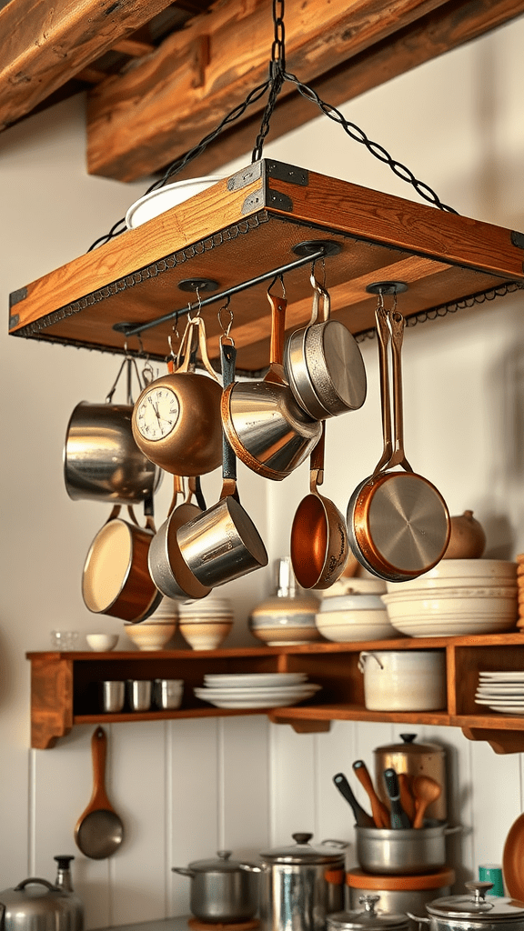
<svg viewBox="0 0 524 931"><path fill-rule="evenodd" d="M308 458L321 425L302 410L283 374L286 302L269 294L270 365L261 382L233 382L222 396L222 422L241 462L265 479L280 481Z"/></svg>

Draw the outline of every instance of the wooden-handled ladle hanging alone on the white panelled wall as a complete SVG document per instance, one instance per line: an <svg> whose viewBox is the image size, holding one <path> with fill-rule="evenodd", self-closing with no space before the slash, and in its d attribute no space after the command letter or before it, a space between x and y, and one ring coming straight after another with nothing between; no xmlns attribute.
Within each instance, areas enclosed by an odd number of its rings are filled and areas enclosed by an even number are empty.
<svg viewBox="0 0 524 931"><path fill-rule="evenodd" d="M93 762L93 791L85 812L78 818L75 828L76 846L85 857L103 860L111 857L122 843L124 827L113 809L105 791L105 756L107 737L97 727L91 737Z"/></svg>

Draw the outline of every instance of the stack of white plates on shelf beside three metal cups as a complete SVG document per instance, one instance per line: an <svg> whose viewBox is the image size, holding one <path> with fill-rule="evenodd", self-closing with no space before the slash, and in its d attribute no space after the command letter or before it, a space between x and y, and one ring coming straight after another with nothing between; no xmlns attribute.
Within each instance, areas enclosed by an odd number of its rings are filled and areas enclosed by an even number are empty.
<svg viewBox="0 0 524 931"><path fill-rule="evenodd" d="M306 672L210 673L194 692L215 708L283 708L322 688L307 679Z"/></svg>

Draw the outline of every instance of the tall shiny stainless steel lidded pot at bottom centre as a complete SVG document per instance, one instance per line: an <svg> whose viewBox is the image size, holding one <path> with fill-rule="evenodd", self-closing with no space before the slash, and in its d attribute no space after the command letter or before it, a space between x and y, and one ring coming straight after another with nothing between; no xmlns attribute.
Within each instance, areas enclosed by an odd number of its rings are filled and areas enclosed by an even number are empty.
<svg viewBox="0 0 524 931"><path fill-rule="evenodd" d="M342 841L310 845L312 834L260 854L260 924L263 931L324 931L325 917L344 908ZM331 846L328 846L331 844Z"/></svg>

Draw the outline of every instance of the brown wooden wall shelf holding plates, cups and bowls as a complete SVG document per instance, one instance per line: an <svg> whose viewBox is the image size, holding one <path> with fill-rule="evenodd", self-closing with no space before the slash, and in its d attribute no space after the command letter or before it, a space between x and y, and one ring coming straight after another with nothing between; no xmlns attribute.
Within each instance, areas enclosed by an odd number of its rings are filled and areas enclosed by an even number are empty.
<svg viewBox="0 0 524 931"><path fill-rule="evenodd" d="M368 711L358 670L361 650L446 651L448 704L437 711ZM496 753L524 751L524 716L482 714L475 693L480 670L524 668L520 633L476 637L399 638L358 643L317 642L288 647L236 647L229 650L139 651L112 653L28 653L31 661L31 746L53 747L76 724L159 721L177 718L268 714L274 723L298 733L329 729L331 721L405 722L461 727L471 740L486 740ZM210 672L307 672L322 691L307 705L292 708L226 710L200 701L193 689ZM176 711L104 714L98 682L103 679L176 678L185 681ZM488 709L487 709L488 711Z"/></svg>

